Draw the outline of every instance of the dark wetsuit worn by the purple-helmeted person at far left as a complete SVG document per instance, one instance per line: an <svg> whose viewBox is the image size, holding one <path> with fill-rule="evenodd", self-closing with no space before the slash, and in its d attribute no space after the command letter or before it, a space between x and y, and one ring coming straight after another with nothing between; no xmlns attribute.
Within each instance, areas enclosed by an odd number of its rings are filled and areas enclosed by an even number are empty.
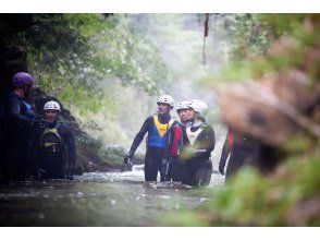
<svg viewBox="0 0 320 240"><path fill-rule="evenodd" d="M24 180L27 176L28 146L35 108L13 92L5 108L4 177L7 180Z"/></svg>

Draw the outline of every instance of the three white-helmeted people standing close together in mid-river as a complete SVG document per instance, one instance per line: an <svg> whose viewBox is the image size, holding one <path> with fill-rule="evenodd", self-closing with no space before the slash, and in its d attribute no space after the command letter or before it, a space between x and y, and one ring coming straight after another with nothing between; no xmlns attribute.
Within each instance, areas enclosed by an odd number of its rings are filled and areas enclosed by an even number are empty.
<svg viewBox="0 0 320 240"><path fill-rule="evenodd" d="M206 123L208 106L194 99L177 104L180 121L171 117L174 99L169 95L157 100L158 113L147 118L124 157L132 160L146 133L145 180L179 181L188 185L208 185L211 179L211 152L216 137L211 125Z"/></svg>

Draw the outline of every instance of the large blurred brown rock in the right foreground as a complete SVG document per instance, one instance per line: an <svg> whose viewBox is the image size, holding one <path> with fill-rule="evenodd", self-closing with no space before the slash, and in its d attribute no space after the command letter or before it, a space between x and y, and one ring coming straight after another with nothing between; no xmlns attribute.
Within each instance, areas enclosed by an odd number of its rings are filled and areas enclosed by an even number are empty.
<svg viewBox="0 0 320 240"><path fill-rule="evenodd" d="M320 127L306 116L319 104L320 86L309 89L305 83L288 77L230 86L220 94L223 121L235 132L273 146L285 143L300 130L320 135Z"/></svg>

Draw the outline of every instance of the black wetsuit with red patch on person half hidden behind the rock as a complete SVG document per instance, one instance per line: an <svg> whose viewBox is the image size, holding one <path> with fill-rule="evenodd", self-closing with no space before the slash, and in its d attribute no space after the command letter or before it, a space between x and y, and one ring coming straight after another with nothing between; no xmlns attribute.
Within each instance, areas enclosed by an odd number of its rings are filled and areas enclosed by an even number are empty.
<svg viewBox="0 0 320 240"><path fill-rule="evenodd" d="M225 172L226 180L244 165L250 164L257 159L258 147L250 139L227 131L219 161L221 168L224 168L229 154L230 159Z"/></svg>

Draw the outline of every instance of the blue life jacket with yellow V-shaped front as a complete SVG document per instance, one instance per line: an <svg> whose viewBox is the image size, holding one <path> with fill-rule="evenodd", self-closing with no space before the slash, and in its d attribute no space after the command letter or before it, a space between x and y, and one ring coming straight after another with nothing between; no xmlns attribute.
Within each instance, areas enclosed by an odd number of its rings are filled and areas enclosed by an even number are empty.
<svg viewBox="0 0 320 240"><path fill-rule="evenodd" d="M158 116L155 115L152 130L148 135L147 147L165 148L170 135L169 130L174 122L175 120L171 118L168 123L162 124L158 120Z"/></svg>

